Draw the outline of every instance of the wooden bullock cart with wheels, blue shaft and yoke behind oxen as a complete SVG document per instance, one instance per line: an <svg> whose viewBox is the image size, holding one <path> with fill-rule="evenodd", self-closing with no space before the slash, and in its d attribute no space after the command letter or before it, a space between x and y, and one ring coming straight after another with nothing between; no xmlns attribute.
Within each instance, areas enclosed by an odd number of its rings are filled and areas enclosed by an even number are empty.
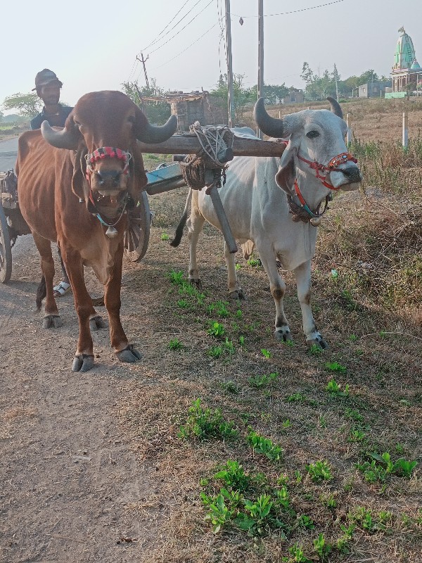
<svg viewBox="0 0 422 563"><path fill-rule="evenodd" d="M234 156L281 156L284 145L274 141L258 141L236 137L227 127L191 127L191 133L175 134L160 144L139 142L143 153L172 154L175 162L160 165L147 172L148 184L142 192L139 203L128 211L128 228L124 234L124 251L127 258L139 262L148 249L151 211L148 195L160 194L177 189L191 181L186 177L186 164L195 163L199 158L203 163L203 186L212 197L222 231L231 252L236 252L236 243L217 189L222 184L221 174L226 163ZM204 158L205 157L205 158ZM187 162L186 162L187 161ZM198 184L197 184L198 185ZM0 172L0 282L11 279L12 252L20 235L30 234L20 213L17 179L13 170Z"/></svg>

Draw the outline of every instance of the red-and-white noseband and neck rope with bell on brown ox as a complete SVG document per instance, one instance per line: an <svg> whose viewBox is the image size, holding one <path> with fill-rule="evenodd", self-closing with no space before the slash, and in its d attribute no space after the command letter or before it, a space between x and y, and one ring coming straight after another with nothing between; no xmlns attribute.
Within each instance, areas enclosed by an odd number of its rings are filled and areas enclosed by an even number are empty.
<svg viewBox="0 0 422 563"><path fill-rule="evenodd" d="M94 201L94 195L92 194L91 176L94 174L94 172L96 172L93 165L96 162L98 162L98 160L103 160L105 158L117 158L118 160L122 160L124 162L123 170L121 172L118 172L117 175L114 176L115 181L117 181L117 178L120 177L121 175L125 175L129 177L129 160L132 158L132 155L131 153L122 151L121 148L115 148L113 146L101 146L100 148L96 148L96 150L93 153L85 155L85 160L87 160L87 172L85 174L85 178L87 179L89 185L89 201L91 202L95 210L94 213L92 213L92 215L94 215L98 219L98 221L104 225L104 227L108 227L106 231L106 235L108 236L109 239L113 239L117 235L117 229L115 229L115 225L120 221L124 212L126 211L130 196L127 192L124 194L124 197L122 198L122 201L120 201L120 205L119 205L120 215L114 223L110 223L103 220L103 217L101 217L101 214L99 213L96 207L96 202ZM97 174L99 173L97 172ZM102 176L100 175L101 177L100 184L101 182L104 181L103 176L105 175L107 175L106 172L103 172Z"/></svg>

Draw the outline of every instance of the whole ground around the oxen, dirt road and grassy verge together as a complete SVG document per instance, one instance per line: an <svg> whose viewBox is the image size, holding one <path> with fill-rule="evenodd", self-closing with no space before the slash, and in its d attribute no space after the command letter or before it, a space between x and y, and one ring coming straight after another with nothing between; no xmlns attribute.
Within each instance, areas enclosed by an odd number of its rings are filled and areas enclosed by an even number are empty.
<svg viewBox="0 0 422 563"><path fill-rule="evenodd" d="M274 341L259 255L238 253L248 299L226 300L212 227L203 290L186 283L186 234L169 245L179 189L149 198L148 252L124 261L122 323L143 358L120 364L98 331L96 367L72 374L72 296L58 300L63 327L41 329L39 260L22 237L0 287L1 562L421 559L422 102L382 102L343 104L364 184L335 196L319 229L313 310L327 350L305 345L288 272L294 343Z"/></svg>

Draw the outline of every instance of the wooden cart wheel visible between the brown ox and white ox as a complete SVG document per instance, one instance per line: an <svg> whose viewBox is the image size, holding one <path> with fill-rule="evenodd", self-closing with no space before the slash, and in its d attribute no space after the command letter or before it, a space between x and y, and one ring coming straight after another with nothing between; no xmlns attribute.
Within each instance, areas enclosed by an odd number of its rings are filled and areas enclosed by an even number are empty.
<svg viewBox="0 0 422 563"><path fill-rule="evenodd" d="M124 233L124 253L132 262L139 262L148 249L151 211L148 196L143 191L136 208L127 212L127 230Z"/></svg>

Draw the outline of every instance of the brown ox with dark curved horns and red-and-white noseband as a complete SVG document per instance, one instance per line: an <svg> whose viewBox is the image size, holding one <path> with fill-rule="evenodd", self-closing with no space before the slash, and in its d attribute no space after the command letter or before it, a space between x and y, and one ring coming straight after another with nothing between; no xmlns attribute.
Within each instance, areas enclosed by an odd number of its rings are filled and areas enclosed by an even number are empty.
<svg viewBox="0 0 422 563"><path fill-rule="evenodd" d="M99 91L79 99L64 129L52 129L44 121L41 131L20 136L19 205L41 255L45 280L37 308L46 295L43 326L60 326L53 296L54 241L68 270L79 318L74 372L93 367L90 327L103 326L84 283L84 265L91 266L104 285L110 341L117 358L122 362L141 358L120 322L125 210L136 205L147 182L136 139L160 143L172 136L176 125L174 116L162 127L150 125L125 94Z"/></svg>

